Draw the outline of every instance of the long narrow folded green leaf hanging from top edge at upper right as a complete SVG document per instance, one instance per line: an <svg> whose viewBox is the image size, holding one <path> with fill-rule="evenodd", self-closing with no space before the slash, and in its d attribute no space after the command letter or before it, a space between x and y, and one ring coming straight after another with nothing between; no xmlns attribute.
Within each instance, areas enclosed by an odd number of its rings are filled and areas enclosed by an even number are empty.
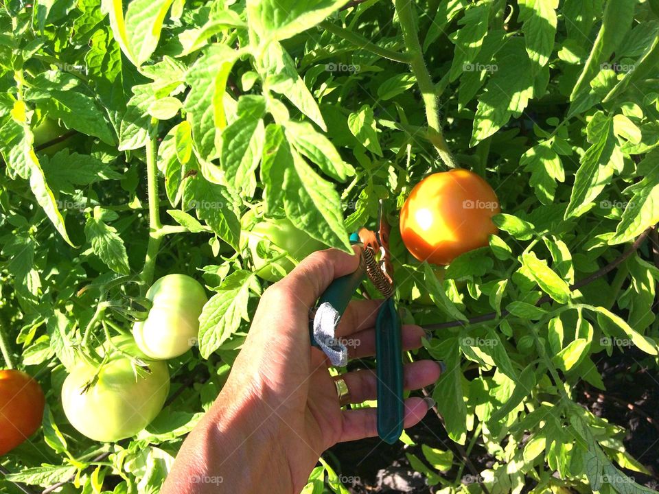
<svg viewBox="0 0 659 494"><path fill-rule="evenodd" d="M607 1L599 33L592 45L586 65L579 75L579 80L570 94L571 102L577 99L577 94L599 73L601 64L609 59L625 38L632 24L635 5L636 0Z"/></svg>

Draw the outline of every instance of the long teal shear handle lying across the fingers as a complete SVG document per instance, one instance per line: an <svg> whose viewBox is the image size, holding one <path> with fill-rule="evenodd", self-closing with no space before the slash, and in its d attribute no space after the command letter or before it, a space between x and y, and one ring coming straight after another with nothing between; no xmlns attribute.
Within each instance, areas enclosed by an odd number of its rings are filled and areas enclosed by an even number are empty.
<svg viewBox="0 0 659 494"><path fill-rule="evenodd" d="M403 359L400 319L393 298L387 298L375 321L375 358L378 376L378 436L393 444L403 432Z"/></svg>

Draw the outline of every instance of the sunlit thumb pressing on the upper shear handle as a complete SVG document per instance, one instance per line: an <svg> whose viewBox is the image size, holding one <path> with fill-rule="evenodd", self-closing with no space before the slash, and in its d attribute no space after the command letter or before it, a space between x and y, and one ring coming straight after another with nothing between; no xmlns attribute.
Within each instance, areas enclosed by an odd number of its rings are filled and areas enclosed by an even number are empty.
<svg viewBox="0 0 659 494"><path fill-rule="evenodd" d="M357 251L359 248L355 247ZM279 294L287 308L295 309L305 318L321 293L334 279L354 272L359 266L359 256L349 255L338 249L314 252L304 259L271 292Z"/></svg>

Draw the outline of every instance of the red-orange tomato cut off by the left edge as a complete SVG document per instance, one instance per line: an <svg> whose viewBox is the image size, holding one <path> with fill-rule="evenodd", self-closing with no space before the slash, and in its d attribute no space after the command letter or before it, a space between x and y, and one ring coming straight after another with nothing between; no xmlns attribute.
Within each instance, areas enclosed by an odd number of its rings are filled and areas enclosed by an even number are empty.
<svg viewBox="0 0 659 494"><path fill-rule="evenodd" d="M41 426L46 404L38 382L21 371L0 371L0 456Z"/></svg>

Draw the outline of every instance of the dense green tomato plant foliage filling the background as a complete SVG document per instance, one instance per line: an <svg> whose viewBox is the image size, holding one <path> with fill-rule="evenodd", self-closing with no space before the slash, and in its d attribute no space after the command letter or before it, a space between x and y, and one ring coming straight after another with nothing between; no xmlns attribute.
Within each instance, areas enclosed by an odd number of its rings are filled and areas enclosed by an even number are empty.
<svg viewBox="0 0 659 494"><path fill-rule="evenodd" d="M483 443L492 493L648 491L621 471L644 470L621 427L577 399L612 352L656 370L647 244L599 276L659 222L656 1L6 0L0 23L0 326L49 405L3 457L3 490L157 492L264 288L240 217L262 207L347 250L380 199L396 223L415 183L457 163L501 200L489 247L437 279L391 239L401 306L436 328L410 357L448 368L434 397L450 438ZM64 149L34 140L44 119ZM93 443L62 382L170 272L214 292L198 349L169 362L146 430ZM428 482L467 489L458 457L423 451L408 460ZM305 492L346 492L338 478L323 462Z"/></svg>

